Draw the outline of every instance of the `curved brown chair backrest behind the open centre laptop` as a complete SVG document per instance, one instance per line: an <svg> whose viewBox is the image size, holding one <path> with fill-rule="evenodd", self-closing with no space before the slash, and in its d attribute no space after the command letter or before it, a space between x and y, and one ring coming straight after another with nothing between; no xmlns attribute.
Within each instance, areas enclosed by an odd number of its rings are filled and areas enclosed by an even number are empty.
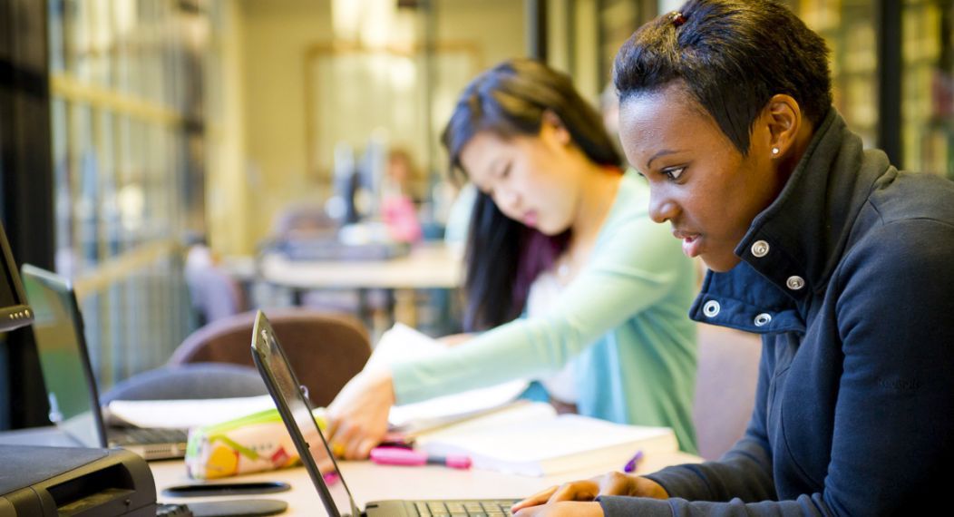
<svg viewBox="0 0 954 517"><path fill-rule="evenodd" d="M302 308L266 311L295 374L312 403L327 405L371 355L367 331L356 319ZM252 366L255 312L214 321L176 348L170 365L231 362Z"/></svg>

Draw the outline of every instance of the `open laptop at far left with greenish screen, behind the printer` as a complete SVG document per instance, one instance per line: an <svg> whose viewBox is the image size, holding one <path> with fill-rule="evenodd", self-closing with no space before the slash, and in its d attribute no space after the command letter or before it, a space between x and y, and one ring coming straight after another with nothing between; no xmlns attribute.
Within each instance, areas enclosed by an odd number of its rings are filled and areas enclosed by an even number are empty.
<svg viewBox="0 0 954 517"><path fill-rule="evenodd" d="M23 265L21 278L35 317L33 336L51 422L77 445L123 447L146 460L184 457L184 429L104 425L73 288L66 279L30 264Z"/></svg>

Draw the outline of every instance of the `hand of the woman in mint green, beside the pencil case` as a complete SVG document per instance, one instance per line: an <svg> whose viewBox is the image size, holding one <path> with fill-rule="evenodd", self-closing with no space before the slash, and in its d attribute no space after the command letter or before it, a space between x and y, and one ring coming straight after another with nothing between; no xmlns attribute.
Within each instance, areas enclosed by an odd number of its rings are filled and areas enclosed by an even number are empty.
<svg viewBox="0 0 954 517"><path fill-rule="evenodd" d="M365 370L328 405L328 442L336 456L364 460L387 432L394 384L387 369Z"/></svg>

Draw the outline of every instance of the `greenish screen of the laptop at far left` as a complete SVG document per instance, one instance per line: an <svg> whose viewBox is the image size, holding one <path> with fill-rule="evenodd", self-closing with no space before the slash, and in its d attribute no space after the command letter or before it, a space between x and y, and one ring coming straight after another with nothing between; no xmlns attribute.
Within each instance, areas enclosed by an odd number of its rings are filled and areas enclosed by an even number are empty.
<svg viewBox="0 0 954 517"><path fill-rule="evenodd" d="M65 279L23 266L22 280L33 309L33 336L50 402L50 421L80 444L105 447L106 437L93 381L81 341L82 323L73 290Z"/></svg>

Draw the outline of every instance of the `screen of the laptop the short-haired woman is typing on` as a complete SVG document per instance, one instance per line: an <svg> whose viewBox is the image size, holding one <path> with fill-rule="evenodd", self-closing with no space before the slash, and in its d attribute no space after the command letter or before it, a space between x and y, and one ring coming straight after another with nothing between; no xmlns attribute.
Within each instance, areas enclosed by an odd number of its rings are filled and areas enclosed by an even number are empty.
<svg viewBox="0 0 954 517"><path fill-rule="evenodd" d="M317 462L331 456L331 451L312 416L311 405L303 393L304 386L295 377L271 325L261 311L256 318L254 332L252 355L325 509L331 515L361 515L343 477L329 487L319 472ZM338 469L337 463L335 469Z"/></svg>

